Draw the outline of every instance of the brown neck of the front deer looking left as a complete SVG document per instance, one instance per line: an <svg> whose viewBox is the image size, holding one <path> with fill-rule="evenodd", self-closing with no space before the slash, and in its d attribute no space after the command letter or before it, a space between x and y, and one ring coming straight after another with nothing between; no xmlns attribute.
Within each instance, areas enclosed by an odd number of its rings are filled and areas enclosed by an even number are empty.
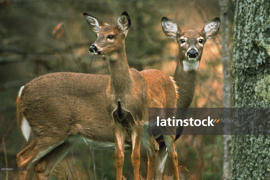
<svg viewBox="0 0 270 180"><path fill-rule="evenodd" d="M111 76L110 88L115 95L121 95L132 85L125 47L121 51L108 55L107 58Z"/></svg>

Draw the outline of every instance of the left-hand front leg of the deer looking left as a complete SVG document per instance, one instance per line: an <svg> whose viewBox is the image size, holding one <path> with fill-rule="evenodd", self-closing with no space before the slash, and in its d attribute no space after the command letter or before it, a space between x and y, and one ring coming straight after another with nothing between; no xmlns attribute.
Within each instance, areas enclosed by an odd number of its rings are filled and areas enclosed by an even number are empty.
<svg viewBox="0 0 270 180"><path fill-rule="evenodd" d="M121 124L116 122L113 125L113 135L115 142L116 180L122 180L125 134Z"/></svg>

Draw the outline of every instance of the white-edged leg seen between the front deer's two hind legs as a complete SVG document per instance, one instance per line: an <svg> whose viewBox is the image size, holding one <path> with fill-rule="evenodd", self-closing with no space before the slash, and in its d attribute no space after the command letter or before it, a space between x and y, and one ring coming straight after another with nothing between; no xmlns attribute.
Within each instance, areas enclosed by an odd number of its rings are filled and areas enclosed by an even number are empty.
<svg viewBox="0 0 270 180"><path fill-rule="evenodd" d="M166 146L163 146L158 151L155 174L154 174L155 180L163 180L165 162L168 156L168 152L166 151L166 148L167 148Z"/></svg>

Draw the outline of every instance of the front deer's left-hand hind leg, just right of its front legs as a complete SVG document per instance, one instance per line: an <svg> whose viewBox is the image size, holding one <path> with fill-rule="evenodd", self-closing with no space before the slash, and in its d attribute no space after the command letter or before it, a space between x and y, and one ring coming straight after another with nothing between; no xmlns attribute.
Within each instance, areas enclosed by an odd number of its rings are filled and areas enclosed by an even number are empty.
<svg viewBox="0 0 270 180"><path fill-rule="evenodd" d="M147 128L145 127L147 126ZM141 142L147 151L147 180L153 180L159 145L152 135L148 134L148 125L145 124L142 132Z"/></svg>

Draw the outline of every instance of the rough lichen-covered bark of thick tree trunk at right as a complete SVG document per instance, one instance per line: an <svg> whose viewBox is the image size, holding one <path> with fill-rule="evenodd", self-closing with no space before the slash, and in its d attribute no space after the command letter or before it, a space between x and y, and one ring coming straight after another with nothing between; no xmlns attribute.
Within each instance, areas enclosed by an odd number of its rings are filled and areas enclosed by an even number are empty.
<svg viewBox="0 0 270 180"><path fill-rule="evenodd" d="M270 1L236 0L234 33L234 107L270 107ZM270 179L269 162L270 136L232 136L232 179Z"/></svg>

